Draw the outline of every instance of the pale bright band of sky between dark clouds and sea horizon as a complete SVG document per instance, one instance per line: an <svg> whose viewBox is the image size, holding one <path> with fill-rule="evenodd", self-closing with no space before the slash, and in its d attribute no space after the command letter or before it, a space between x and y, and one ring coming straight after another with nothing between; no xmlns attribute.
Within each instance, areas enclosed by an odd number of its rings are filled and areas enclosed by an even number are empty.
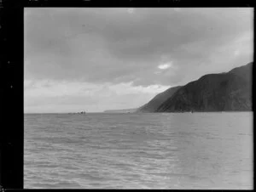
<svg viewBox="0 0 256 192"><path fill-rule="evenodd" d="M49 109L67 112L83 109L102 111L115 107L136 108L155 94L169 88L161 85L134 86L133 82L95 84L51 80L26 80L24 86L26 112L47 112Z"/></svg>

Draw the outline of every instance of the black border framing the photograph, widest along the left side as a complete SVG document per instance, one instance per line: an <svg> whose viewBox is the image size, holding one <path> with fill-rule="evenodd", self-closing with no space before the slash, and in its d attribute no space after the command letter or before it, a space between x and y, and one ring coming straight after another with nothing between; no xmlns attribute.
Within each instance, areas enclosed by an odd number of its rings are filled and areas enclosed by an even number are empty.
<svg viewBox="0 0 256 192"><path fill-rule="evenodd" d="M0 52L0 191L34 190L24 189L23 178L24 8L32 7L253 8L254 4L251 0L208 0L203 2L199 0L0 0L0 50L2 50ZM254 109L253 105L253 111Z"/></svg>

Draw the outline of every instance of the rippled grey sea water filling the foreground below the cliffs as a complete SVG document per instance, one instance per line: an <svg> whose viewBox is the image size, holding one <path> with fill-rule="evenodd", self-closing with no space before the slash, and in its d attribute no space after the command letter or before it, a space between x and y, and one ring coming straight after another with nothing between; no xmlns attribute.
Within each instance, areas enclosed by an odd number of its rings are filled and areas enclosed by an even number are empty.
<svg viewBox="0 0 256 192"><path fill-rule="evenodd" d="M25 115L25 189L253 189L253 112Z"/></svg>

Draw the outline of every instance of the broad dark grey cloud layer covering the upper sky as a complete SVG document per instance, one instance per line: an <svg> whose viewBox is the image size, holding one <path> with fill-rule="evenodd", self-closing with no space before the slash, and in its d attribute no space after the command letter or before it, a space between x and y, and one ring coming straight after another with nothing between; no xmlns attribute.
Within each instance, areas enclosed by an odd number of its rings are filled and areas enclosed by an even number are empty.
<svg viewBox="0 0 256 192"><path fill-rule="evenodd" d="M253 8L26 8L25 75L182 84L246 64L251 54L233 52L252 39ZM163 56L176 70L154 73Z"/></svg>

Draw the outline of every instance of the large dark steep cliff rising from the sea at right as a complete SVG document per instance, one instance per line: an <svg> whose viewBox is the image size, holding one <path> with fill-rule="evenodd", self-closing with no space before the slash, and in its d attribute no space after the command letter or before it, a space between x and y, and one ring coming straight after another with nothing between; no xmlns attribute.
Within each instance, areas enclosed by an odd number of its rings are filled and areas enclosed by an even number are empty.
<svg viewBox="0 0 256 192"><path fill-rule="evenodd" d="M201 76L179 88L154 112L252 110L253 63Z"/></svg>

